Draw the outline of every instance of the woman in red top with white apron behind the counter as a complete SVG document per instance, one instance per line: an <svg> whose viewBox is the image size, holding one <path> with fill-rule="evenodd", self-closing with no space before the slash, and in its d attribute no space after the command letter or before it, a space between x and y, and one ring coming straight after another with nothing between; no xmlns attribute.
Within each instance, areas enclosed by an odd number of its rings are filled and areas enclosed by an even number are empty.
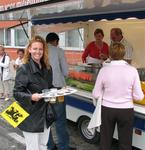
<svg viewBox="0 0 145 150"><path fill-rule="evenodd" d="M83 55L83 63L100 64L106 60L109 55L109 47L103 42L104 32L102 29L96 29L94 32L95 41L92 41L86 47Z"/></svg>

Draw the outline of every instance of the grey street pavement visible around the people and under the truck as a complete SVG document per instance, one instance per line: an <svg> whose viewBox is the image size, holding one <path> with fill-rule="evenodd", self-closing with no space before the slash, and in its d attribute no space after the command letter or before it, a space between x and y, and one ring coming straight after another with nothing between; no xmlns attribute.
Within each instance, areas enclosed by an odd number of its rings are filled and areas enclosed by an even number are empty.
<svg viewBox="0 0 145 150"><path fill-rule="evenodd" d="M0 99L0 112L6 109L13 101ZM52 129L54 139L57 142L55 130L53 127ZM76 146L77 150L99 150L99 144L89 144L81 138L76 123L68 121L68 131L70 145ZM2 117L0 117L0 150L25 150L22 132L18 128L13 128ZM117 150L116 142L113 142L112 150Z"/></svg>

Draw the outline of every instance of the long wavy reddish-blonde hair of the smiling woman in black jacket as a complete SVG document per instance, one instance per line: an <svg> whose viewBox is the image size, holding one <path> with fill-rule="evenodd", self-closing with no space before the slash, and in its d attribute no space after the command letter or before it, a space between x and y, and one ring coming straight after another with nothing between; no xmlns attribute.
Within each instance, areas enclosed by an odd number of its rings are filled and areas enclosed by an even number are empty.
<svg viewBox="0 0 145 150"><path fill-rule="evenodd" d="M27 47L25 49L23 63L26 64L29 62L29 60L31 58L29 49L30 49L32 43L35 43L35 42L40 42L43 44L43 56L42 56L40 62L43 67L50 69L50 64L49 64L49 59L48 59L48 46L47 46L47 43L45 42L45 40L39 35L32 37L32 39L29 41L29 44L27 45Z"/></svg>

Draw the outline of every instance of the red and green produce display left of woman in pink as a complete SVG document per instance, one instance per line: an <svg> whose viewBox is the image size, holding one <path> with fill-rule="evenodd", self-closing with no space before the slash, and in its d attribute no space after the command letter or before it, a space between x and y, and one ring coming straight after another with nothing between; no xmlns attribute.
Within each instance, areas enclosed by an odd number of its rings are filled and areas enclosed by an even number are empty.
<svg viewBox="0 0 145 150"><path fill-rule="evenodd" d="M80 90L92 92L100 66L80 64L70 66L66 84Z"/></svg>

